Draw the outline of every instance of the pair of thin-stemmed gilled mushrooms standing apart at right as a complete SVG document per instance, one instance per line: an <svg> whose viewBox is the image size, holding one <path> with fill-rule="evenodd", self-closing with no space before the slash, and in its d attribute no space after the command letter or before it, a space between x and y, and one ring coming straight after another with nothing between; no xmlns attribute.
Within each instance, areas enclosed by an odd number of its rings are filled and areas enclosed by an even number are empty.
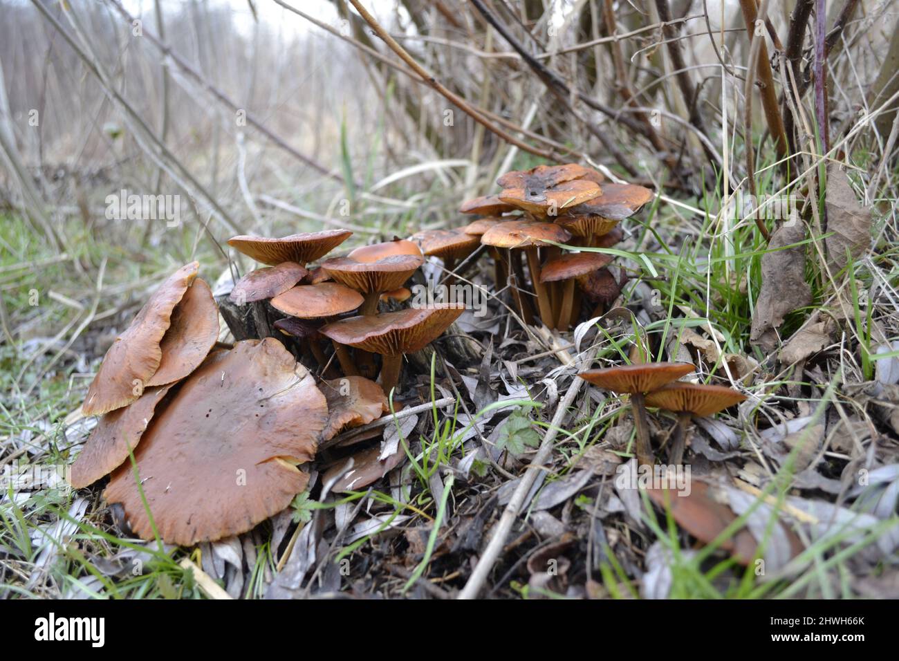
<svg viewBox="0 0 899 661"><path fill-rule="evenodd" d="M601 389L630 396L636 433L636 460L640 466L654 463L646 406L677 414L678 422L672 430L669 453L669 460L677 465L683 461L687 425L694 415L715 415L746 399L743 393L725 386L679 380L694 370L688 362L647 362L587 370L578 376Z"/></svg>

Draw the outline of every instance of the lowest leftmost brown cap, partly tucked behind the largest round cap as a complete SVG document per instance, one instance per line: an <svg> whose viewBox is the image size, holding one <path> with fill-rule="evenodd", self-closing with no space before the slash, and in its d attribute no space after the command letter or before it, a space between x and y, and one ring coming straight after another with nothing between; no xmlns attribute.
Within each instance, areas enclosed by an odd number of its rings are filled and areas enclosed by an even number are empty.
<svg viewBox="0 0 899 661"><path fill-rule="evenodd" d="M156 405L170 386L148 388L130 406L103 415L85 442L85 447L72 464L72 487L81 489L109 475L128 459L129 447L138 447L147 430Z"/></svg>

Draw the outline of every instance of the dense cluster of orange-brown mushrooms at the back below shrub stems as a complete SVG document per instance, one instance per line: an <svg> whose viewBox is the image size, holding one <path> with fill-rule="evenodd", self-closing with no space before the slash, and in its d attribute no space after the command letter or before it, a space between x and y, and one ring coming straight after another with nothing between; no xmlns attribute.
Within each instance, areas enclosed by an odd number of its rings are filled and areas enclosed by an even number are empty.
<svg viewBox="0 0 899 661"><path fill-rule="evenodd" d="M619 292L608 270L611 256L577 248L614 246L623 237L620 221L652 200L653 192L605 183L602 174L576 164L538 165L503 174L496 183L502 192L460 209L484 218L454 231L479 236L489 247L497 289L509 287L521 319L532 324L539 318L564 331L581 317L583 299L601 314ZM573 249L563 253L557 244Z"/></svg>

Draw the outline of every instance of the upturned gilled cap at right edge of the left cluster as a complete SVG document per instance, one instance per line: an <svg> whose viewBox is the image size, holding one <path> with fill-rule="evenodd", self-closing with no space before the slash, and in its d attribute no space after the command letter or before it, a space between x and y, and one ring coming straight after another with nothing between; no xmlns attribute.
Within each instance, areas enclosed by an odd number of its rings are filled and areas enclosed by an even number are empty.
<svg viewBox="0 0 899 661"><path fill-rule="evenodd" d="M366 317L341 319L322 326L334 342L386 356L420 351L441 335L465 310L462 304L409 308Z"/></svg>

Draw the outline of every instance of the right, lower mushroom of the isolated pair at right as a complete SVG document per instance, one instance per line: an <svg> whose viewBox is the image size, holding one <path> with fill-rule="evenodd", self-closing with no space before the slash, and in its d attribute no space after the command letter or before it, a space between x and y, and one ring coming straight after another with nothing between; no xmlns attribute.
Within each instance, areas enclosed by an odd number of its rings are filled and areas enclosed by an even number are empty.
<svg viewBox="0 0 899 661"><path fill-rule="evenodd" d="M746 396L726 386L709 386L698 383L670 383L646 394L646 406L663 408L677 414L677 424L672 436L671 462L679 464L687 442L687 425L695 415L708 417L739 404Z"/></svg>

